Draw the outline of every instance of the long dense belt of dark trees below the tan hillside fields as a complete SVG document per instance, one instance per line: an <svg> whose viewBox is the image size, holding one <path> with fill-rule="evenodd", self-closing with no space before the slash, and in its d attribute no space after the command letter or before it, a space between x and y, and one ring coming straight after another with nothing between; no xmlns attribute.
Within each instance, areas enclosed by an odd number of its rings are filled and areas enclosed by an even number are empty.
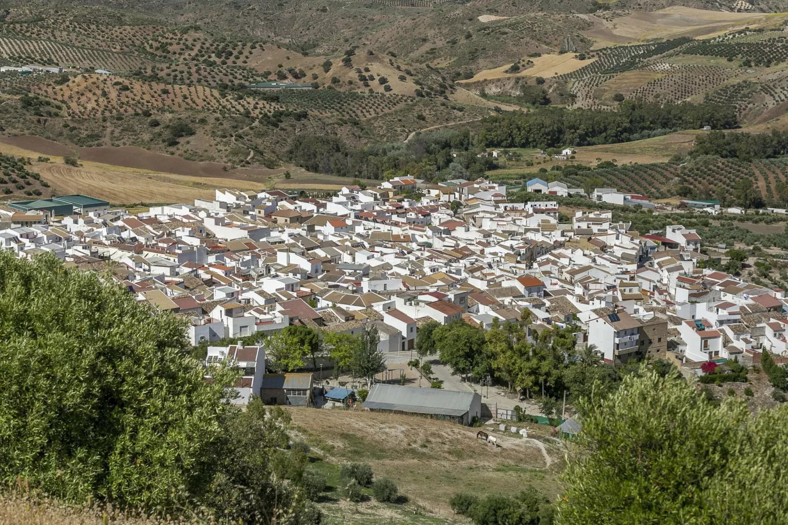
<svg viewBox="0 0 788 525"><path fill-rule="evenodd" d="M704 102L660 105L626 100L616 111L542 108L487 117L479 141L488 147L590 146L628 142L643 132L733 128L735 108Z"/></svg>

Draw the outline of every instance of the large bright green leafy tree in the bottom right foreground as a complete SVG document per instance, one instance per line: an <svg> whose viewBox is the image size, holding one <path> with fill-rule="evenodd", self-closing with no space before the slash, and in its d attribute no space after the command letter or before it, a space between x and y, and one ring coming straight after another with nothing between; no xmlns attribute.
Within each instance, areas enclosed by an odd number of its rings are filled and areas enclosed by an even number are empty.
<svg viewBox="0 0 788 525"><path fill-rule="evenodd" d="M617 392L581 404L560 525L788 520L788 488L778 481L788 452L785 405L753 415L742 400L710 403L677 372L645 367Z"/></svg>

